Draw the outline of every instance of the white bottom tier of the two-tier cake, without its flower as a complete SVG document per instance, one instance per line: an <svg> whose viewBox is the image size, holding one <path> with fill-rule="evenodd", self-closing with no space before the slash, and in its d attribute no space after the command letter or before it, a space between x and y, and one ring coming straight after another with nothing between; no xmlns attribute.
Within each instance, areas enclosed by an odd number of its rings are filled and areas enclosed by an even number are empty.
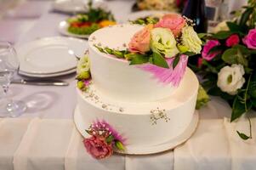
<svg viewBox="0 0 256 170"><path fill-rule="evenodd" d="M104 120L126 139L128 154L148 154L171 149L188 139L195 130L199 83L187 69L179 88L167 99L147 103L128 103L108 99L94 88L77 89L77 129L87 137L85 129L97 120ZM140 151L139 151L140 150Z"/></svg>

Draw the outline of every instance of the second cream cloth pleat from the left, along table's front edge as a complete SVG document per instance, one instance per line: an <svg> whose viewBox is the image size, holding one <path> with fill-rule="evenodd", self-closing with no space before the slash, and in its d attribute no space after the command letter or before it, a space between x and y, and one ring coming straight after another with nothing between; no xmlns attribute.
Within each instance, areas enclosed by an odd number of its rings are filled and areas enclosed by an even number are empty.
<svg viewBox="0 0 256 170"><path fill-rule="evenodd" d="M14 154L15 170L63 170L73 122L34 119Z"/></svg>

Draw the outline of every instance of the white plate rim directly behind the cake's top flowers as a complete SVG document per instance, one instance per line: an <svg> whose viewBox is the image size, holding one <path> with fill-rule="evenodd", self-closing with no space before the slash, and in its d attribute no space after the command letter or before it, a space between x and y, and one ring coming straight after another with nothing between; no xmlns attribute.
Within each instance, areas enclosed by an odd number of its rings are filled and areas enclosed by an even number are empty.
<svg viewBox="0 0 256 170"><path fill-rule="evenodd" d="M157 11L157 10L143 10L139 12L134 12L131 14L128 14L123 20L123 23L128 22L129 20L137 20L139 18L145 18L148 16L156 16L156 17L162 17L164 14L170 14L172 12L170 11Z"/></svg>

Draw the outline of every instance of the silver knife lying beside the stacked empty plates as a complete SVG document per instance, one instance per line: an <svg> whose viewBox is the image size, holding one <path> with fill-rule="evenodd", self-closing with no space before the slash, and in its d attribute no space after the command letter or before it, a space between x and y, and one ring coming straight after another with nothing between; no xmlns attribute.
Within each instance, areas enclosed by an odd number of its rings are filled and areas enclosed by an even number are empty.
<svg viewBox="0 0 256 170"><path fill-rule="evenodd" d="M68 82L64 82L61 80L54 80L54 79L14 79L11 83L15 84L26 84L26 85L36 85L36 86L68 86Z"/></svg>

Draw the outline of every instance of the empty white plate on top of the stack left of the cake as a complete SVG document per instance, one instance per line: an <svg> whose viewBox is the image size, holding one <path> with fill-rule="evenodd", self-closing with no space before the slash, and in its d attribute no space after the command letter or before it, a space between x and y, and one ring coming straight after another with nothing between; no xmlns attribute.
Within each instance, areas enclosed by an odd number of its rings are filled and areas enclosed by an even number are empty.
<svg viewBox="0 0 256 170"><path fill-rule="evenodd" d="M71 37L45 37L16 47L20 72L58 74L76 68L75 55L82 56L88 42Z"/></svg>

